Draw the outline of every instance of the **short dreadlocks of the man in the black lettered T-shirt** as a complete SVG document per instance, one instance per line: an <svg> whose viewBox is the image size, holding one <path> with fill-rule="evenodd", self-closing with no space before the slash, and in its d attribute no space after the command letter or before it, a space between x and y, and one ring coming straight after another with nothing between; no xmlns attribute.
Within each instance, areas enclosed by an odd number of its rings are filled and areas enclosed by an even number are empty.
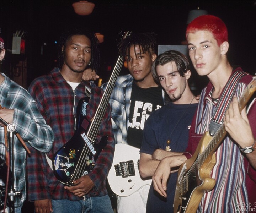
<svg viewBox="0 0 256 213"><path fill-rule="evenodd" d="M156 33L137 33L137 34L131 34L130 36L127 36L125 39L123 39L119 45L119 55L123 56L125 58L126 51L130 49L132 46L139 45L140 52L145 53L148 52L150 55L152 53L155 53L156 51ZM135 52L135 48L134 48ZM129 51L128 51L128 57L129 57Z"/></svg>

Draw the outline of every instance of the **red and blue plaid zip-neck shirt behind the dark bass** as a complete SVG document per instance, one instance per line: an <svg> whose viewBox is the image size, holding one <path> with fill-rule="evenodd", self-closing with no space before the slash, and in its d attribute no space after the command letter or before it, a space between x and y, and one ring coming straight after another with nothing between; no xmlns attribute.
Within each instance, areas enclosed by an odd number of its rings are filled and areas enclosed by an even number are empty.
<svg viewBox="0 0 256 213"><path fill-rule="evenodd" d="M59 69L54 68L50 74L34 80L28 89L32 97L36 99L38 108L46 123L52 127L54 132L53 148L48 153L51 159L53 159L54 153L74 135L76 107L79 100L86 96L85 86L91 89L91 98L87 105L87 119L91 120L103 94L103 90L94 84L90 85L89 82L82 81L73 92L71 86L60 74ZM105 180L114 154L114 137L109 105L103 117L97 139L99 140L106 135L108 136L108 143L101 151L94 169L88 174L95 186L86 197L107 194ZM46 162L44 153L33 149L31 158L28 158L27 166L28 200L47 198L81 199L64 189L64 185L57 180Z"/></svg>

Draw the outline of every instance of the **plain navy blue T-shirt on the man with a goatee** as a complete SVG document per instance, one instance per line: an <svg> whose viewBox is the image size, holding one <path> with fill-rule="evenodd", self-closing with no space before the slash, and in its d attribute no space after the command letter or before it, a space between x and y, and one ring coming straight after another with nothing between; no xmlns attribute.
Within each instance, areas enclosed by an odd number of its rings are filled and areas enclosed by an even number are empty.
<svg viewBox="0 0 256 213"><path fill-rule="evenodd" d="M166 149L172 152L184 152L188 144L188 132L198 104L169 103L154 111L149 116L143 130L143 141L140 152L153 154L155 149ZM167 141L170 141L167 144ZM147 213L173 212L173 201L177 173L172 173L167 182L167 198L158 194L151 185L149 190Z"/></svg>

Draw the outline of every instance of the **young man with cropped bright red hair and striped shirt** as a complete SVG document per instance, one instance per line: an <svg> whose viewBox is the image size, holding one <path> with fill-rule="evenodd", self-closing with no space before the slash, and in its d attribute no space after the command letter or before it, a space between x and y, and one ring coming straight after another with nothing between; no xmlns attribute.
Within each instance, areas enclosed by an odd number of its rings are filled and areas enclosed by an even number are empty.
<svg viewBox="0 0 256 213"><path fill-rule="evenodd" d="M191 158L204 132L211 132L211 119L215 109L226 98L222 97L225 85L233 73L243 73L240 67L232 67L227 60L228 31L220 18L212 15L199 16L188 25L186 38L194 68L199 75L207 75L210 82L201 93L199 107L191 125L186 150L188 153L165 158L155 171L154 188L164 197L170 168L181 165L181 159L185 161ZM255 99L248 104L250 108L247 108L247 117L245 109L242 113L239 112L236 98L241 97L251 80L252 76L243 73L235 88L233 102L224 120L220 122L224 122L229 135L224 137L215 152L217 162L210 176L216 180L216 184L213 190L204 193L198 207L200 212L236 212L238 207L253 207L255 203L252 192L256 190L256 104ZM254 128L251 129L250 126ZM250 209L239 211L247 212Z"/></svg>

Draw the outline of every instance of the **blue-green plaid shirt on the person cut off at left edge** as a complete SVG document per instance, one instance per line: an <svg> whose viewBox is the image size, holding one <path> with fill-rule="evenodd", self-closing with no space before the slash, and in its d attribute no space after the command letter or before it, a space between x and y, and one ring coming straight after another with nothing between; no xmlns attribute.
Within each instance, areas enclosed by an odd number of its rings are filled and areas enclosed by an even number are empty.
<svg viewBox="0 0 256 213"><path fill-rule="evenodd" d="M54 139L53 131L46 125L36 102L21 86L10 80L3 73L5 81L0 84L0 104L6 109L14 109L13 124L26 144L41 152L49 152ZM4 143L4 127L0 127L0 140ZM32 151L33 148L30 148ZM0 145L0 157L5 160L5 146ZM16 197L15 207L22 206L26 199L25 184L26 151L16 136L14 136L14 188L22 190L22 198ZM5 186L0 180L0 185Z"/></svg>

